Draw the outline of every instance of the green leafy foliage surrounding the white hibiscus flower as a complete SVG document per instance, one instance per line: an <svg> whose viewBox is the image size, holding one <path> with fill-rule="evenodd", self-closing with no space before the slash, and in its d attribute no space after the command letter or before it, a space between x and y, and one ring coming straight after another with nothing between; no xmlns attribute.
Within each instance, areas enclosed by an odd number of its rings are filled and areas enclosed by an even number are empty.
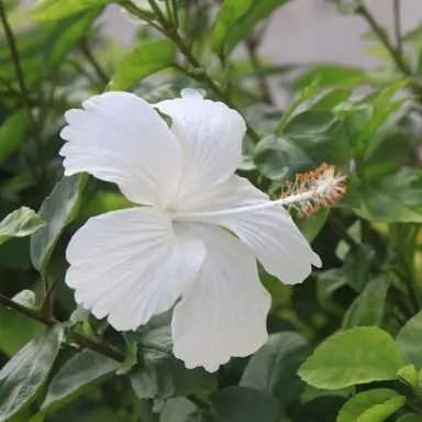
<svg viewBox="0 0 422 422"><path fill-rule="evenodd" d="M160 2L166 19L121 1L151 21L129 52L102 36L108 3L0 0L0 216L25 206L44 221L21 209L0 224L0 421L421 421L422 27L401 30L400 0L385 0L392 34L365 3L334 1L367 24L380 65L298 68L258 49L287 0ZM240 45L246 55L232 54ZM289 81L282 109L274 76ZM348 174L330 212L296 215L323 269L295 287L262 273L270 338L216 375L173 358L168 315L116 333L63 281L75 230L127 206L111 185L62 179L63 113L103 90L153 102L181 87L243 112L238 173L270 196L324 162Z"/></svg>

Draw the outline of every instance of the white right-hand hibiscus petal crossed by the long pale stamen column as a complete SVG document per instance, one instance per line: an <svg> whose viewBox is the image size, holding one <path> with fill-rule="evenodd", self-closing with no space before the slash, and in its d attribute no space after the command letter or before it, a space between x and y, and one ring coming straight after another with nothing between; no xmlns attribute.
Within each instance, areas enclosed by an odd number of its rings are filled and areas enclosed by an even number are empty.
<svg viewBox="0 0 422 422"><path fill-rule="evenodd" d="M267 201L268 197L247 179L234 175L226 182L185 201L184 207L188 212L210 212ZM235 233L254 251L266 271L285 284L302 282L312 270L311 264L321 266L320 257L281 207L216 214L204 220Z"/></svg>

